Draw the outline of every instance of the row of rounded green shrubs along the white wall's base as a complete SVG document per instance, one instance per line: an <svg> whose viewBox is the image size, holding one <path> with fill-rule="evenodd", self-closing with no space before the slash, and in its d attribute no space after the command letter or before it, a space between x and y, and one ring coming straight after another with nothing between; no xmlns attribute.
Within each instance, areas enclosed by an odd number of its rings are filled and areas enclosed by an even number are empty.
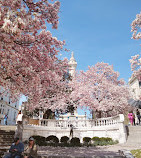
<svg viewBox="0 0 141 158"><path fill-rule="evenodd" d="M36 144L39 146L62 146L62 147L81 146L80 139L77 137L72 138L69 142L69 137L62 136L60 139L61 143L59 143L59 139L54 135L50 135L47 138L39 135L34 135L32 137L35 139ZM93 141L92 144L91 141ZM92 139L90 137L84 137L82 145L103 146L103 145L113 145L117 143L118 143L117 140L114 141L112 140L112 138L108 138L108 137L101 137L101 138L93 137Z"/></svg>

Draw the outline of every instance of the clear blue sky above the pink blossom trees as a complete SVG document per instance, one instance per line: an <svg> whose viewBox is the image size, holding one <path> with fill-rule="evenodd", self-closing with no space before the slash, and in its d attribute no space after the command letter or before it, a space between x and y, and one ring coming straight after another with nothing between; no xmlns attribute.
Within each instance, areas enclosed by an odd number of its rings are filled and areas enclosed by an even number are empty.
<svg viewBox="0 0 141 158"><path fill-rule="evenodd" d="M129 59L140 53L139 40L131 39L131 23L141 11L140 0L60 0L58 30L53 36L66 41L77 60L77 70L106 62L128 82ZM48 27L50 29L50 26Z"/></svg>

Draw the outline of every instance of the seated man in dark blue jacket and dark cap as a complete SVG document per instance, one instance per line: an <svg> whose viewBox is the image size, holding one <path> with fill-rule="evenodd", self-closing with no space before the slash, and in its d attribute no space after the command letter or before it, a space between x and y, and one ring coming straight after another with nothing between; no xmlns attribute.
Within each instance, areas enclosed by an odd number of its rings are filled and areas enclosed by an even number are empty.
<svg viewBox="0 0 141 158"><path fill-rule="evenodd" d="M9 153L4 156L4 158L22 158L22 153L24 151L24 145L20 142L20 139L17 137L14 139L14 143L9 149Z"/></svg>

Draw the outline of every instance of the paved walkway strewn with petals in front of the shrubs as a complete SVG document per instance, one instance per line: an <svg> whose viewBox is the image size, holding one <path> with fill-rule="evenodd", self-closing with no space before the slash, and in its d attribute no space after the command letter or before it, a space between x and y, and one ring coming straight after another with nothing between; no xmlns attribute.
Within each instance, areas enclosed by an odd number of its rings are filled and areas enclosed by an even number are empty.
<svg viewBox="0 0 141 158"><path fill-rule="evenodd" d="M99 147L40 147L39 154L50 158L92 158L92 157L107 157L120 158L119 150L140 149L140 146L129 145L111 145Z"/></svg>

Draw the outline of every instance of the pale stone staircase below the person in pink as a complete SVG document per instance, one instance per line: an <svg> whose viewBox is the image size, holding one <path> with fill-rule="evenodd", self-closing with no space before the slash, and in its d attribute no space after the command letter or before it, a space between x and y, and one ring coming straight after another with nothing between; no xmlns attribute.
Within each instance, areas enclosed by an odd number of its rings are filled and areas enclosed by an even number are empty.
<svg viewBox="0 0 141 158"><path fill-rule="evenodd" d="M135 145L141 147L141 126L129 126L127 145Z"/></svg>

